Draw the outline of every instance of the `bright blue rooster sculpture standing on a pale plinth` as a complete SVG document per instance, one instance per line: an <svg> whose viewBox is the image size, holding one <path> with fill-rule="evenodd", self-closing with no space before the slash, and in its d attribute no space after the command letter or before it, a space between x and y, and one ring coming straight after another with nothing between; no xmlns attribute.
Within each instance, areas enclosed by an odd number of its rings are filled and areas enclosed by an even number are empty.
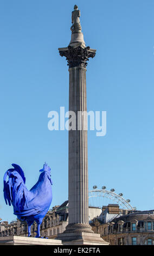
<svg viewBox="0 0 154 256"><path fill-rule="evenodd" d="M28 224L28 236L30 236L30 227L36 221L37 235L40 237L40 225L44 216L49 210L52 203L52 185L53 181L50 178L50 167L44 163L43 169L37 183L28 190L25 186L25 176L22 168L15 163L14 167L8 169L4 174L4 199L5 203L12 204L14 214L21 221L26 221ZM7 181L7 176L9 180Z"/></svg>

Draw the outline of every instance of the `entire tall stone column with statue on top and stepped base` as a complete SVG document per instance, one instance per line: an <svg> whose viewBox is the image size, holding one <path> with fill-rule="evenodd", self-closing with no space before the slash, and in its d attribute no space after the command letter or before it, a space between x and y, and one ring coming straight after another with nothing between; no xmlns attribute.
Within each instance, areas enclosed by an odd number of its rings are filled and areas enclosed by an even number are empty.
<svg viewBox="0 0 154 256"><path fill-rule="evenodd" d="M100 234L94 234L88 223L88 156L86 66L96 50L86 47L81 32L80 10L72 11L71 40L68 47L59 48L69 66L69 117L74 125L69 129L68 146L68 225L57 239L64 245L108 245Z"/></svg>

